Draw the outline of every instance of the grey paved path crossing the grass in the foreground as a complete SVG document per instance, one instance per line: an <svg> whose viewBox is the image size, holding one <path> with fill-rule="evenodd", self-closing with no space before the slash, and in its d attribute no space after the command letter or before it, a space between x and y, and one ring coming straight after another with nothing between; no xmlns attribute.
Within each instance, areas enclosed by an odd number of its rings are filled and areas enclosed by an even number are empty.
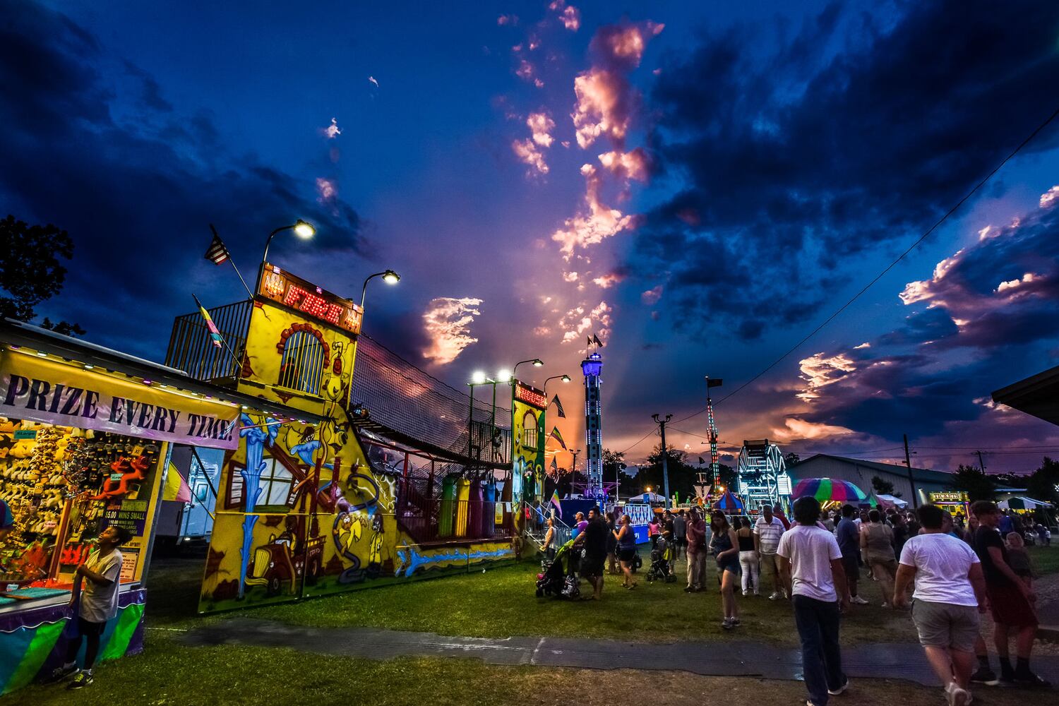
<svg viewBox="0 0 1059 706"><path fill-rule="evenodd" d="M647 646L571 637L451 637L377 628L307 628L232 618L195 628L180 641L189 646L288 647L374 659L400 655L478 657L493 665L683 670L705 675L802 678L797 649L741 640ZM648 648L650 656L647 656ZM922 651L915 644L858 645L843 650L843 663L850 677L902 678L936 685ZM1042 656L1035 659L1035 667L1053 683L1059 683L1059 657Z"/></svg>

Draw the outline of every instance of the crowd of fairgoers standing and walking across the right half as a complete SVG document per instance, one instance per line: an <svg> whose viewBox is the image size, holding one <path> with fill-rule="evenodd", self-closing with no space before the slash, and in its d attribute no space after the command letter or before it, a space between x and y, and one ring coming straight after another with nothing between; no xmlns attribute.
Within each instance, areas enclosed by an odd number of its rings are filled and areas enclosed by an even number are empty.
<svg viewBox="0 0 1059 706"><path fill-rule="evenodd" d="M974 503L966 523L936 505L914 512L845 505L824 512L812 497L797 499L792 514L789 521L778 508L764 506L752 522L714 510L707 522L698 508L665 510L651 520L648 538L656 551L666 548L670 571L681 555L686 558L688 593L707 590L706 565L713 558L724 630L740 624L740 594L791 602L807 706L826 706L829 696L848 687L841 616L850 605L872 602L862 591L862 569L878 585L883 608L911 607L927 662L951 706L971 703L974 683L1049 686L1029 667L1038 619L1025 533L1045 544L1049 535L990 502ZM628 515L615 523L593 508L587 520L578 519L575 531L574 544L584 549L580 571L593 599L602 597L607 556L621 566L622 586L635 589L639 555ZM612 566L611 573L616 571ZM979 616L987 612L999 675L980 628Z"/></svg>

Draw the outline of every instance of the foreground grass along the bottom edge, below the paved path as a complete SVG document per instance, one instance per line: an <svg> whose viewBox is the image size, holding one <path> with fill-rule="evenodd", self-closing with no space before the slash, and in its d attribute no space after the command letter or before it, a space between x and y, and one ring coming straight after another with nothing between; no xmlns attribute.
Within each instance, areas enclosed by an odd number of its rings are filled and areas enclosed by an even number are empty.
<svg viewBox="0 0 1059 706"><path fill-rule="evenodd" d="M167 637L152 636L143 654L101 665L95 684L86 689L71 693L60 685L31 686L0 698L0 706L609 706L641 700L649 700L652 706L685 706L700 703L706 693L719 694L717 701L725 706L805 703L805 688L798 682L684 672L501 667L473 659L376 662L289 649L184 648ZM1021 689L983 688L979 695L983 703L1017 706L1024 704L1028 694ZM934 706L943 703L943 694L939 687L861 680L841 701L857 706Z"/></svg>

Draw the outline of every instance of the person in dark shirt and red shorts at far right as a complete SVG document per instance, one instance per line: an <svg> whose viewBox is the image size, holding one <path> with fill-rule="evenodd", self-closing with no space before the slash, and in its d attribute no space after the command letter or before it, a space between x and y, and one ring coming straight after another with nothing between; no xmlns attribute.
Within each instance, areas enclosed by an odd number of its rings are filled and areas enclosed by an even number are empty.
<svg viewBox="0 0 1059 706"><path fill-rule="evenodd" d="M1029 669L1029 653L1037 634L1037 612L1034 590L1019 579L1008 562L1004 539L997 531L1001 513L997 505L989 501L977 501L971 505L971 512L979 519L979 529L974 532L974 550L982 561L982 572L986 577L986 594L993 618L993 642L1000 654L1000 678L1023 686L1051 686L1048 682ZM1016 634L1018 662L1011 667L1008 652L1008 637Z"/></svg>

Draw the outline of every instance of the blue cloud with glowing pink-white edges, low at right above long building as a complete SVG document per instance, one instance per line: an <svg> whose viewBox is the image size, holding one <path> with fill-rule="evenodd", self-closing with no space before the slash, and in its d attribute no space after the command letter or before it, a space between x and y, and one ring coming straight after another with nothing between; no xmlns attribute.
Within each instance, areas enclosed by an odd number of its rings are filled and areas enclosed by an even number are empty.
<svg viewBox="0 0 1059 706"><path fill-rule="evenodd" d="M1012 369L1039 369L1055 345L1059 209L982 233L929 279L905 286L900 301L913 313L900 328L801 361L794 397L803 405L787 415L790 438L846 433L836 430L894 438L900 420L915 436L962 435L967 443L990 434L1001 445L1048 440L1029 417L983 403L983 393L1012 382Z"/></svg>

